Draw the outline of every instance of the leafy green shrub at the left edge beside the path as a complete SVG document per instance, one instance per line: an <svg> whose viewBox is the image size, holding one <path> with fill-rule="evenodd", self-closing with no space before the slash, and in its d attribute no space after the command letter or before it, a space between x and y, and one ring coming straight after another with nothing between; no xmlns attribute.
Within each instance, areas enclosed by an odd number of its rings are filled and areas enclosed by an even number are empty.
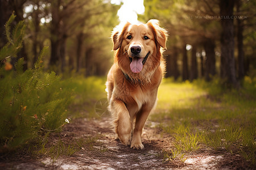
<svg viewBox="0 0 256 170"><path fill-rule="evenodd" d="M10 33L11 16L6 23L9 42L1 49L1 59L16 56L22 47L24 24L18 23ZM44 47L34 69L23 71L24 59L15 63L15 70L1 66L0 77L0 150L13 149L38 137L40 131L59 130L67 118L66 107L71 99L68 89L55 73L43 73Z"/></svg>

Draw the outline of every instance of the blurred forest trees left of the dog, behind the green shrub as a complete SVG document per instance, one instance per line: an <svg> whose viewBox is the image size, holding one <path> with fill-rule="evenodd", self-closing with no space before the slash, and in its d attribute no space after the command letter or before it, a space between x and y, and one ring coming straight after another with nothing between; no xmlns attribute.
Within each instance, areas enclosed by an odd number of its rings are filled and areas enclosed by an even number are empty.
<svg viewBox="0 0 256 170"><path fill-rule="evenodd" d="M3 0L0 2L1 40L5 23L13 13L15 22L24 20L27 36L18 58L24 57L32 67L43 46L48 45L46 69L57 73L69 71L89 75L105 75L112 63L113 27L118 24L119 6L100 0ZM14 23L15 24L15 23Z"/></svg>

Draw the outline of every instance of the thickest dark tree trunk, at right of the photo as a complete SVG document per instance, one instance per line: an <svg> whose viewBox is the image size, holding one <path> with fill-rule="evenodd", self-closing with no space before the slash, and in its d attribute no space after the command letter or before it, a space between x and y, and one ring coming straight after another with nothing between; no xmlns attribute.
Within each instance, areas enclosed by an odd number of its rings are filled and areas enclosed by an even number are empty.
<svg viewBox="0 0 256 170"><path fill-rule="evenodd" d="M234 23L233 0L220 0L221 35L221 67L222 78L228 86L238 87L234 60Z"/></svg>

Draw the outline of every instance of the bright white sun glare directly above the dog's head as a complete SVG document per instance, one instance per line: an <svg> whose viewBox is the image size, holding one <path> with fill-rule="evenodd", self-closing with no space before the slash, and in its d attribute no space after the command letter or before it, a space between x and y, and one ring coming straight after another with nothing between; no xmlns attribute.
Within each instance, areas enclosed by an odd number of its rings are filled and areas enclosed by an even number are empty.
<svg viewBox="0 0 256 170"><path fill-rule="evenodd" d="M132 24L139 24L137 14L143 14L145 7L143 5L143 0L112 0L111 3L120 5L123 2L123 5L118 10L117 15L121 23L130 22Z"/></svg>

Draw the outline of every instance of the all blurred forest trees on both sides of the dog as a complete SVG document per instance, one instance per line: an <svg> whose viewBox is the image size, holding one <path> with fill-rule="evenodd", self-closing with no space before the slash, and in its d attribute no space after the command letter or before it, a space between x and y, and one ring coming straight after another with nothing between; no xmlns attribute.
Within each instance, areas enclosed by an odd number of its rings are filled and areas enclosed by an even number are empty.
<svg viewBox="0 0 256 170"><path fill-rule="evenodd" d="M0 47L6 43L4 24L14 11L15 22L27 24L18 54L26 61L24 69L48 45L46 69L106 75L113 63L110 32L119 23L120 6L110 0L0 1ZM218 77L226 86L238 87L245 75L256 74L255 6L251 0L145 0L139 20L158 19L170 33L166 76L191 81Z"/></svg>

